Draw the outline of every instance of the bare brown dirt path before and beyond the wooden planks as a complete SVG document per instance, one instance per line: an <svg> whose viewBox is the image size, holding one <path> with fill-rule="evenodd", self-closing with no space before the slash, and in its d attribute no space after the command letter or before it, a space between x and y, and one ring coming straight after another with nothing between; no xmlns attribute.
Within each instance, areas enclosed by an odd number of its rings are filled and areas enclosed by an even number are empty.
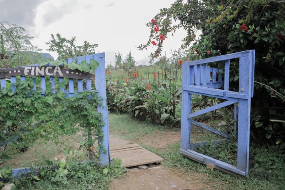
<svg viewBox="0 0 285 190"><path fill-rule="evenodd" d="M114 138L112 136L110 139ZM117 138L116 138L117 139ZM116 140L116 143L119 141ZM121 143L127 143L121 140ZM140 143L159 150L180 142L180 132L153 134L136 139L132 143ZM112 140L110 140L112 145ZM181 176L163 165L138 169L129 169L126 177L115 179L111 190L212 190L207 183L207 176L193 173L190 176Z"/></svg>

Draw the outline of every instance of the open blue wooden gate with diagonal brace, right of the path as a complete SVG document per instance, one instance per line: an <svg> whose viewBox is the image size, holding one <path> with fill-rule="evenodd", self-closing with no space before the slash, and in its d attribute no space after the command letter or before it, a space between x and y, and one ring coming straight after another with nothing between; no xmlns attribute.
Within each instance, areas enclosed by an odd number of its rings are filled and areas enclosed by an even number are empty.
<svg viewBox="0 0 285 190"><path fill-rule="evenodd" d="M249 162L249 135L250 135L250 104L253 97L254 79L254 50L248 50L228 55L211 57L186 62L182 66L182 103L181 103L181 146L180 153L203 164L211 164L219 170L247 176ZM229 86L231 60L239 66L238 87L235 90ZM238 60L238 61L237 61ZM219 63L221 68L210 68L208 64ZM238 88L238 89L237 89ZM221 103L208 106L202 110L192 112L192 96L201 95L222 99ZM214 159L195 151L195 143L191 142L191 125L206 129L222 137L231 138L231 135L207 126L194 120L201 116L234 105L234 118L237 120L237 164L236 166ZM236 131L236 130L234 130ZM206 142L203 142L204 144Z"/></svg>

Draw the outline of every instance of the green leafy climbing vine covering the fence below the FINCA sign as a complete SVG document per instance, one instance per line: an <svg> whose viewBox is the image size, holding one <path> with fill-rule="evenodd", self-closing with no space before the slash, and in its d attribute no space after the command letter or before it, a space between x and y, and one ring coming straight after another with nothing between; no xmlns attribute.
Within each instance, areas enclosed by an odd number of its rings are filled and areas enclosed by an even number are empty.
<svg viewBox="0 0 285 190"><path fill-rule="evenodd" d="M36 83L40 78L34 78ZM17 80L19 81L19 80ZM67 97L62 91L46 93L33 91L33 78L18 82L13 93L11 86L0 92L0 144L9 144L16 149L29 146L37 139L57 139L61 135L71 135L81 130L87 138L87 148L99 140L98 148L103 149L103 119L97 112L99 97L95 91L85 91L76 97ZM49 89L48 89L49 88Z"/></svg>

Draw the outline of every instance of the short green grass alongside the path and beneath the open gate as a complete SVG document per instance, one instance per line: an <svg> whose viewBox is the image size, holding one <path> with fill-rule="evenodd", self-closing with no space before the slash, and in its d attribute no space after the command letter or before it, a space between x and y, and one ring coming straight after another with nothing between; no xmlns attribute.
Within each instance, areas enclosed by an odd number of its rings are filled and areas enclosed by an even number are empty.
<svg viewBox="0 0 285 190"><path fill-rule="evenodd" d="M118 122L120 121L120 122ZM167 133L173 130L131 119L128 115L109 114L110 134L126 140L143 139L146 135L159 130ZM187 177L200 174L201 180L214 186L217 190L282 190L285 189L285 155L278 148L262 146L251 147L251 166L247 178L232 176L219 170L210 170L205 165L183 157L179 153L179 143L170 145L167 149L157 149L145 146L148 150L164 158L162 164L173 169L181 176ZM221 154L219 152L218 154ZM203 179L203 176L207 178Z"/></svg>

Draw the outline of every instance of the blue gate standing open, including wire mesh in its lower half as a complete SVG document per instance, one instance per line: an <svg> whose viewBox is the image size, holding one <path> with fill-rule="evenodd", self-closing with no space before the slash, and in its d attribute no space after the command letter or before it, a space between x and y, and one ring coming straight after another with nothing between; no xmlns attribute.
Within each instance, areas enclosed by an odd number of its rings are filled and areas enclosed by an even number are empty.
<svg viewBox="0 0 285 190"><path fill-rule="evenodd" d="M253 97L255 51L248 50L217 57L186 62L182 65L182 103L181 103L181 146L180 153L231 174L247 176L249 162L250 104ZM210 64L219 68L211 68ZM239 73L230 76L230 66L239 67ZM238 84L230 87L231 81ZM205 105L198 102L197 97L206 99ZM202 107L202 109L201 109ZM224 108L226 107L226 108ZM231 108L227 108L231 107ZM218 111L217 110L222 110ZM215 120L203 120L203 115L219 115L219 124ZM223 119L230 116L228 125ZM217 127L218 125L218 127ZM206 146L209 141L192 142L192 128L202 128L222 139L213 140L218 146L222 141L236 139L236 162L221 161L197 152L199 147ZM224 130L224 129L228 130ZM192 132L193 133L193 132ZM205 134L203 134L205 135ZM208 133L206 134L208 135ZM233 143L231 141L230 143ZM214 147L213 146L213 147ZM202 151L203 152L203 151Z"/></svg>

